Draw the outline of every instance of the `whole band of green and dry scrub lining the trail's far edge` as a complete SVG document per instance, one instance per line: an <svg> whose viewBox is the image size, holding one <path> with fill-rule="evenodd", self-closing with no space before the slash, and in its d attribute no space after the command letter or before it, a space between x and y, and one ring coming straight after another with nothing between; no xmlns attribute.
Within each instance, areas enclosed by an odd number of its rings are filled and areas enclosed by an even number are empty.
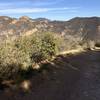
<svg viewBox="0 0 100 100"><path fill-rule="evenodd" d="M21 70L27 71L66 50L93 47L93 41L83 42L71 35L60 37L52 32L34 33L14 41L5 40L0 43L0 78L16 77Z"/></svg>

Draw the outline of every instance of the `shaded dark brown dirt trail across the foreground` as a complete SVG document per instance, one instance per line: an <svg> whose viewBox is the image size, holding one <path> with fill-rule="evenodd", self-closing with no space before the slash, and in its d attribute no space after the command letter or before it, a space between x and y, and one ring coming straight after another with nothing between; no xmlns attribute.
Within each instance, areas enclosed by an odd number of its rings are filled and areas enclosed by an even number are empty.
<svg viewBox="0 0 100 100"><path fill-rule="evenodd" d="M53 64L52 64L53 63ZM30 78L30 91L5 90L2 100L100 100L100 51L58 56ZM9 92L9 93L8 93Z"/></svg>

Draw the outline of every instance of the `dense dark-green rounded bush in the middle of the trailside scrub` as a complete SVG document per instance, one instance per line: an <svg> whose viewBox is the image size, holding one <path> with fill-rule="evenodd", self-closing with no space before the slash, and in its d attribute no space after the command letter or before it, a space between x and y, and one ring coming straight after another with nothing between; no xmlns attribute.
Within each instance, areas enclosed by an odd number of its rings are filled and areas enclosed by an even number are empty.
<svg viewBox="0 0 100 100"><path fill-rule="evenodd" d="M45 59L51 59L57 53L56 38L52 33L44 33L38 35L38 41L34 44L32 52L32 60L34 62L41 62Z"/></svg>

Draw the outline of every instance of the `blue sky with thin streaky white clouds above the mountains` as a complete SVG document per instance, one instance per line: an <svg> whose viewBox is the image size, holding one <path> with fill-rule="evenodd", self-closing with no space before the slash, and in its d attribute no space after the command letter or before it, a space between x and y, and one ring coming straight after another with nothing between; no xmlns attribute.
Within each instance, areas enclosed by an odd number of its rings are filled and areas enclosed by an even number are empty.
<svg viewBox="0 0 100 100"><path fill-rule="evenodd" d="M69 20L100 16L100 0L0 0L0 16Z"/></svg>

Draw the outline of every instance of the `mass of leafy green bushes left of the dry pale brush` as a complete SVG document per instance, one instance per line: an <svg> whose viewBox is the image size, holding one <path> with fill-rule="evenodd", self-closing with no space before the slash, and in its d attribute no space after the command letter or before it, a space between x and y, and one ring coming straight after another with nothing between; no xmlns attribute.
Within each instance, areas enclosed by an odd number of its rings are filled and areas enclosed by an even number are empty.
<svg viewBox="0 0 100 100"><path fill-rule="evenodd" d="M16 77L20 70L28 70L33 64L50 60L58 51L57 38L52 33L19 37L0 44L0 78Z"/></svg>

